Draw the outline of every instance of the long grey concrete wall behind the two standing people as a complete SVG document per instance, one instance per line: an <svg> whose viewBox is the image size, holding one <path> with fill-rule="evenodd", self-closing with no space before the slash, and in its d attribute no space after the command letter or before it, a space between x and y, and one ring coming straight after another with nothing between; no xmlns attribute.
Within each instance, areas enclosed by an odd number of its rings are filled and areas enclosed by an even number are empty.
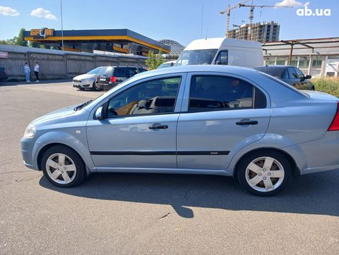
<svg viewBox="0 0 339 255"><path fill-rule="evenodd" d="M8 45L0 45L0 53L2 53L0 54L0 67L7 69L10 80L25 79L25 62L30 65L32 77L34 77L34 62L38 62L41 80L57 80L73 78L95 67L110 65L145 67L147 59L141 56L73 53Z"/></svg>

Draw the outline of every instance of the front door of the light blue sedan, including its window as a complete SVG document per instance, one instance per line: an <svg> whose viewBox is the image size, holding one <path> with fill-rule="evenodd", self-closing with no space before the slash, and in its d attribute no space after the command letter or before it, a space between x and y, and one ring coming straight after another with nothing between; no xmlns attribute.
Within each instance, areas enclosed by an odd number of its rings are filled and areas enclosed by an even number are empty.
<svg viewBox="0 0 339 255"><path fill-rule="evenodd" d="M106 118L90 118L86 127L98 171L176 168L176 124L182 98L178 94L183 82L185 74L143 80L98 105L104 107Z"/></svg>

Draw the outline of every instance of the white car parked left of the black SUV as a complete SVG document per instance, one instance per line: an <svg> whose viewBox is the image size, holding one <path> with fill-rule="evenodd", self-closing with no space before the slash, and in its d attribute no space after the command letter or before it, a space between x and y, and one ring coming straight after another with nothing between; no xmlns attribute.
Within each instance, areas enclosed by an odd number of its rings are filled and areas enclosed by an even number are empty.
<svg viewBox="0 0 339 255"><path fill-rule="evenodd" d="M100 87L96 84L96 81L107 67L97 67L88 73L84 73L80 76L75 76L73 78L73 87L76 87L80 90L91 89L91 90L101 90Z"/></svg>

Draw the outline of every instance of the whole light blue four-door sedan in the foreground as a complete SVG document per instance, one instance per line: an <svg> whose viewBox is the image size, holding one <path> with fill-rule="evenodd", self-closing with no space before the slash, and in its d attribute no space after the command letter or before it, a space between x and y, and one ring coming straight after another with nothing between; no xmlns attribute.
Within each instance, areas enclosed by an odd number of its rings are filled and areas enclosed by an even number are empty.
<svg viewBox="0 0 339 255"><path fill-rule="evenodd" d="M102 172L212 174L273 195L291 176L339 168L338 101L254 69L156 69L35 119L21 151L55 186Z"/></svg>

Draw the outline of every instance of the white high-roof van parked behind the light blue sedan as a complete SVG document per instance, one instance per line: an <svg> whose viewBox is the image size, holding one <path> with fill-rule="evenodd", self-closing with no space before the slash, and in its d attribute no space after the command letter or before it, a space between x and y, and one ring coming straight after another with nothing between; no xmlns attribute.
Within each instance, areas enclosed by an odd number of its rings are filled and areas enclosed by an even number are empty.
<svg viewBox="0 0 339 255"><path fill-rule="evenodd" d="M262 66L264 65L262 44L230 38L196 39L188 44L176 61L176 66L187 64Z"/></svg>

